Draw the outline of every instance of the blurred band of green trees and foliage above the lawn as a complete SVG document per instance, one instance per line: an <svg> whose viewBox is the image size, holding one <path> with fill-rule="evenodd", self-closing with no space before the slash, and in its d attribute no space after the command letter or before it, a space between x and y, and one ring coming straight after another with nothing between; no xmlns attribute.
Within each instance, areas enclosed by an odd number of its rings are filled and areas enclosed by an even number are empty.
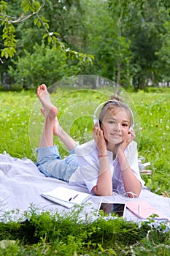
<svg viewBox="0 0 170 256"><path fill-rule="evenodd" d="M169 13L165 0L0 1L1 89L80 74L169 86Z"/></svg>

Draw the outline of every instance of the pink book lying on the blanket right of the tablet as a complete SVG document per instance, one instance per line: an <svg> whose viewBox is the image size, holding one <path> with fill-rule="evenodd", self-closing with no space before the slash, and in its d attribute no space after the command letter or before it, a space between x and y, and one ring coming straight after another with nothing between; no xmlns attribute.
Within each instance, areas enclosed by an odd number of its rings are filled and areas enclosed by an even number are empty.
<svg viewBox="0 0 170 256"><path fill-rule="evenodd" d="M139 219L147 219L152 214L158 215L153 217L154 219L169 219L168 217L161 214L160 211L150 206L150 204L145 201L131 200L126 202L126 206Z"/></svg>

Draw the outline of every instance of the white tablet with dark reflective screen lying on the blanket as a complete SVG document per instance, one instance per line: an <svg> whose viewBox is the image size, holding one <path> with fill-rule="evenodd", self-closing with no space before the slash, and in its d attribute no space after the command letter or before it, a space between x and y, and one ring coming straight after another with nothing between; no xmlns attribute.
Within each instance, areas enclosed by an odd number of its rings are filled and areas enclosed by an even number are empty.
<svg viewBox="0 0 170 256"><path fill-rule="evenodd" d="M104 202L104 200L101 200L99 206L98 206L98 215L107 214L107 215L115 215L118 217L125 217L125 209L126 209L126 203L120 203L120 202Z"/></svg>

